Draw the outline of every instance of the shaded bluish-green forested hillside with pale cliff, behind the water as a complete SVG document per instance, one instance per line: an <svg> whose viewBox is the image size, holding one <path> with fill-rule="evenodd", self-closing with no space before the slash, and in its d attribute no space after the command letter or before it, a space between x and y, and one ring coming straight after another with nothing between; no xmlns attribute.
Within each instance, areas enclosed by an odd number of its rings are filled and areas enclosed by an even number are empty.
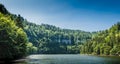
<svg viewBox="0 0 120 64"><path fill-rule="evenodd" d="M23 24L29 41L37 47L37 53L80 53L80 45L92 36L90 32L61 29L48 24L36 25L27 20Z"/></svg>

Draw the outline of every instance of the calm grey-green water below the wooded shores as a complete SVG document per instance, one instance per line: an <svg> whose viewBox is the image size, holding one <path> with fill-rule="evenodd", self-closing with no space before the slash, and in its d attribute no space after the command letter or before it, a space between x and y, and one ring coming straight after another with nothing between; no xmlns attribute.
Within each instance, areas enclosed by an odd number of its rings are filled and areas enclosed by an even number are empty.
<svg viewBox="0 0 120 64"><path fill-rule="evenodd" d="M120 57L88 55L30 55L26 64L120 64Z"/></svg>

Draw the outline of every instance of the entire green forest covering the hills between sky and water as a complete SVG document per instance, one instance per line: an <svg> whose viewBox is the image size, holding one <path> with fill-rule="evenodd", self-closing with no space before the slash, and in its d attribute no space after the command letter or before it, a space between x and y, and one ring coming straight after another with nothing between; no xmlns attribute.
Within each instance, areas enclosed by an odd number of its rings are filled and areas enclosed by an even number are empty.
<svg viewBox="0 0 120 64"><path fill-rule="evenodd" d="M120 23L86 32L35 24L10 13L0 4L0 59L18 59L29 54L120 55Z"/></svg>

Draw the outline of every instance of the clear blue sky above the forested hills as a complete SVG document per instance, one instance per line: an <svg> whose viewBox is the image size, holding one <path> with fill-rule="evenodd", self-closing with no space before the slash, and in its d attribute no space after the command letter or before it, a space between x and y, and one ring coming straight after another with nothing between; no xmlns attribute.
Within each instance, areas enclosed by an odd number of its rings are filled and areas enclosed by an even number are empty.
<svg viewBox="0 0 120 64"><path fill-rule="evenodd" d="M36 24L98 31L120 21L120 0L0 0L14 14Z"/></svg>

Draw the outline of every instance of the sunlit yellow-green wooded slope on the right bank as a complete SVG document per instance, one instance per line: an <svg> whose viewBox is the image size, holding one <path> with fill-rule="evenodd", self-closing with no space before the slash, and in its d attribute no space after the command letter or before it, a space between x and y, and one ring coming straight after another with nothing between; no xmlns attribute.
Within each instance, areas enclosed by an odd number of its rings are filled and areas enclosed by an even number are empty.
<svg viewBox="0 0 120 64"><path fill-rule="evenodd" d="M83 54L120 55L120 22L110 29L98 32L81 48Z"/></svg>

